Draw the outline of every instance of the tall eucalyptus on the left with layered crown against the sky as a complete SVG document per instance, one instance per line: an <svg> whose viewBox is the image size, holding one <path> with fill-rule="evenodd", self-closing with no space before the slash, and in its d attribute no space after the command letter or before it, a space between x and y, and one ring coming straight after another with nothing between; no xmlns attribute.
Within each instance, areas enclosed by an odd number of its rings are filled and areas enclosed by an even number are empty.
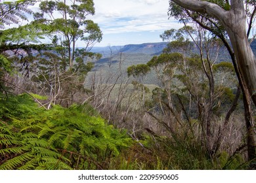
<svg viewBox="0 0 256 183"><path fill-rule="evenodd" d="M69 106L85 92L85 76L101 55L91 48L102 32L88 16L95 14L92 0L41 1L35 21L50 32L51 50L37 56L33 71L35 91L49 96L51 103Z"/></svg>

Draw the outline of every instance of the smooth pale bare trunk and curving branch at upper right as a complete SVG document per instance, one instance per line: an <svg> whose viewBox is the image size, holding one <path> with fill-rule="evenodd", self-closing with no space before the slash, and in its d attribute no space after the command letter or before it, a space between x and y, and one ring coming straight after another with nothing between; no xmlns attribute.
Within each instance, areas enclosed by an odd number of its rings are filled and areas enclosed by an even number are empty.
<svg viewBox="0 0 256 183"><path fill-rule="evenodd" d="M242 79L256 106L256 58L247 39L244 1L232 0L230 10L215 3L196 0L171 0L188 10L207 13L223 25L230 38Z"/></svg>

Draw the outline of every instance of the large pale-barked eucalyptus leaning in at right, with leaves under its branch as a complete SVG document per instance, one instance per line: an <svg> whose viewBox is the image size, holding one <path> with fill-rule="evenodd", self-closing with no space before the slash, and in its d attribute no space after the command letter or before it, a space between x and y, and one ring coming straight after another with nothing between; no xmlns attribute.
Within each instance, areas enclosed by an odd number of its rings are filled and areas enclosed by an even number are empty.
<svg viewBox="0 0 256 183"><path fill-rule="evenodd" d="M173 2L184 7L186 9L185 12L190 16L192 16L193 12L197 12L202 18L206 13L206 20L211 22L205 22L204 24L202 23L202 25L219 24L218 26L222 27L226 31L232 43L239 72L241 73L242 79L256 105L256 58L249 46L247 38L255 18L255 1L245 1L247 6L251 5L251 8L253 8L253 12L251 14L245 14L247 10L245 11L244 1L232 0L230 2L219 1L219 3L211 3L211 1L173 0ZM170 15L177 16L177 11L175 12L172 1L170 1L170 7ZM192 10L193 12L189 12L188 10ZM195 16L195 14L193 14L193 16ZM245 24L247 16L250 17L250 20L249 29L246 31ZM212 28L212 31L215 33L217 30Z"/></svg>

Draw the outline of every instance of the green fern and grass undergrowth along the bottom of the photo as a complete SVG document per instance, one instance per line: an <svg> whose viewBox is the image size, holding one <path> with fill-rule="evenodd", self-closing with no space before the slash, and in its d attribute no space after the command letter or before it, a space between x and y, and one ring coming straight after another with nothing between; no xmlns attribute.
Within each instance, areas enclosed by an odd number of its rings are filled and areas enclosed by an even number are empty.
<svg viewBox="0 0 256 183"><path fill-rule="evenodd" d="M90 105L38 107L27 94L1 96L0 169L245 169L242 156L209 158L194 139L107 125Z"/></svg>

